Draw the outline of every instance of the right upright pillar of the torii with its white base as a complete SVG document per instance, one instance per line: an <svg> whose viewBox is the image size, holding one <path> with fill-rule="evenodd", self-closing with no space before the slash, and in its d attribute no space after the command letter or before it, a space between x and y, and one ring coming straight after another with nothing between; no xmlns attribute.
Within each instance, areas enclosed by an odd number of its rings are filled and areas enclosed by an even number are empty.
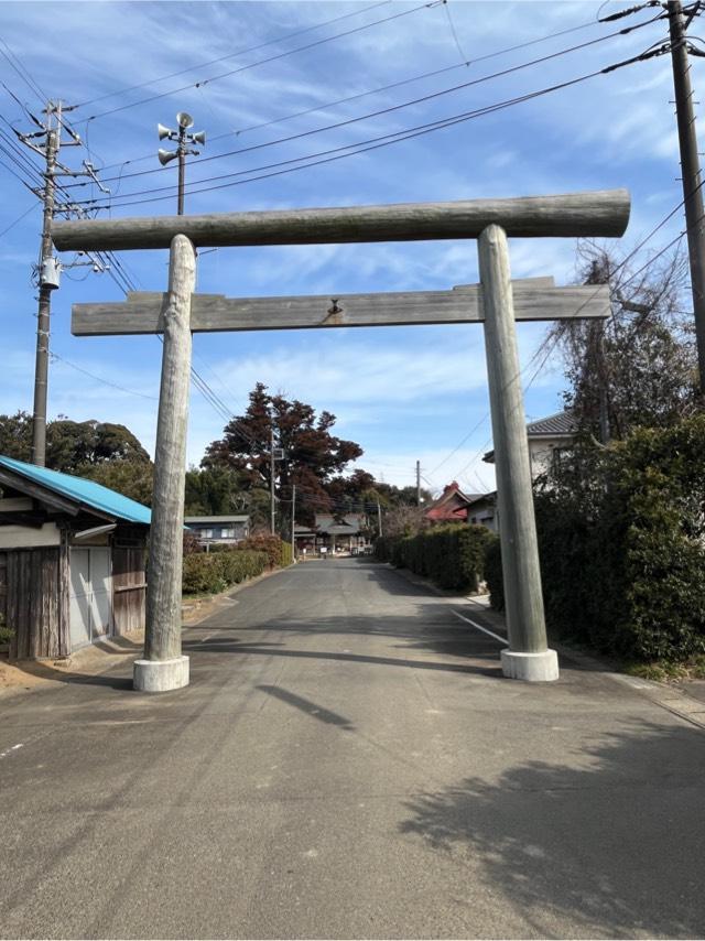
<svg viewBox="0 0 705 941"><path fill-rule="evenodd" d="M539 543L533 512L524 397L517 346L509 246L500 226L478 241L485 350L497 467L502 573L509 650L505 673L524 680L555 680L558 661L547 649L541 593Z"/></svg>

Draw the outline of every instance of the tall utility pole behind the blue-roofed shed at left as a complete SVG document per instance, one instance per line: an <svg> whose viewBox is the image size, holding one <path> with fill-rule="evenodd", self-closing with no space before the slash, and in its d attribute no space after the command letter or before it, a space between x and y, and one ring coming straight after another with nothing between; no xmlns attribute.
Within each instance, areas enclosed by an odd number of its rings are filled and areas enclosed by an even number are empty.
<svg viewBox="0 0 705 941"><path fill-rule="evenodd" d="M55 121L52 117L55 117ZM44 154L44 220L40 252L40 300L36 320L36 363L34 367L34 411L32 418L32 463L46 464L46 399L48 385L48 337L52 291L58 286L58 266L52 245L52 223L56 198L56 156L62 139L62 102L46 105L46 144Z"/></svg>

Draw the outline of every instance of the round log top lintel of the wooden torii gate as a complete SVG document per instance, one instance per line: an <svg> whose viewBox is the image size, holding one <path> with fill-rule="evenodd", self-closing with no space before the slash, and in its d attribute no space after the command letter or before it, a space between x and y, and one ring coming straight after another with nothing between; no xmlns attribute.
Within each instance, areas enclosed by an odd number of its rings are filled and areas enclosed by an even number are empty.
<svg viewBox="0 0 705 941"><path fill-rule="evenodd" d="M627 190L552 196L397 203L321 209L79 219L53 225L59 251L169 248L175 235L209 246L322 245L477 238L491 224L509 236L619 237L629 221Z"/></svg>

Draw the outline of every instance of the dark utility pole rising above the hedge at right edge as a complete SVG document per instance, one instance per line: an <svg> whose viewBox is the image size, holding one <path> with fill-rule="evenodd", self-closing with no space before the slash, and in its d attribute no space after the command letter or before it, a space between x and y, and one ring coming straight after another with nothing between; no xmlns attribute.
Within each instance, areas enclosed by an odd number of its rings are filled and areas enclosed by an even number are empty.
<svg viewBox="0 0 705 941"><path fill-rule="evenodd" d="M681 0L669 0L668 9L683 199L687 227L687 251L691 263L691 290L693 292L693 313L697 340L697 366L701 394L705 394L705 219L703 218L701 164L695 136L691 63Z"/></svg>

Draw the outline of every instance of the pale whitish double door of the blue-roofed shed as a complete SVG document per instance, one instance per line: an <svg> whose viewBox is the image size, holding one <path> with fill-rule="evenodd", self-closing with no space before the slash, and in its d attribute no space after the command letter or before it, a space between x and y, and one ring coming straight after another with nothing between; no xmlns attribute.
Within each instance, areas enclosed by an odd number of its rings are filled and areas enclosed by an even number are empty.
<svg viewBox="0 0 705 941"><path fill-rule="evenodd" d="M70 646L76 649L110 631L109 549L70 550Z"/></svg>

